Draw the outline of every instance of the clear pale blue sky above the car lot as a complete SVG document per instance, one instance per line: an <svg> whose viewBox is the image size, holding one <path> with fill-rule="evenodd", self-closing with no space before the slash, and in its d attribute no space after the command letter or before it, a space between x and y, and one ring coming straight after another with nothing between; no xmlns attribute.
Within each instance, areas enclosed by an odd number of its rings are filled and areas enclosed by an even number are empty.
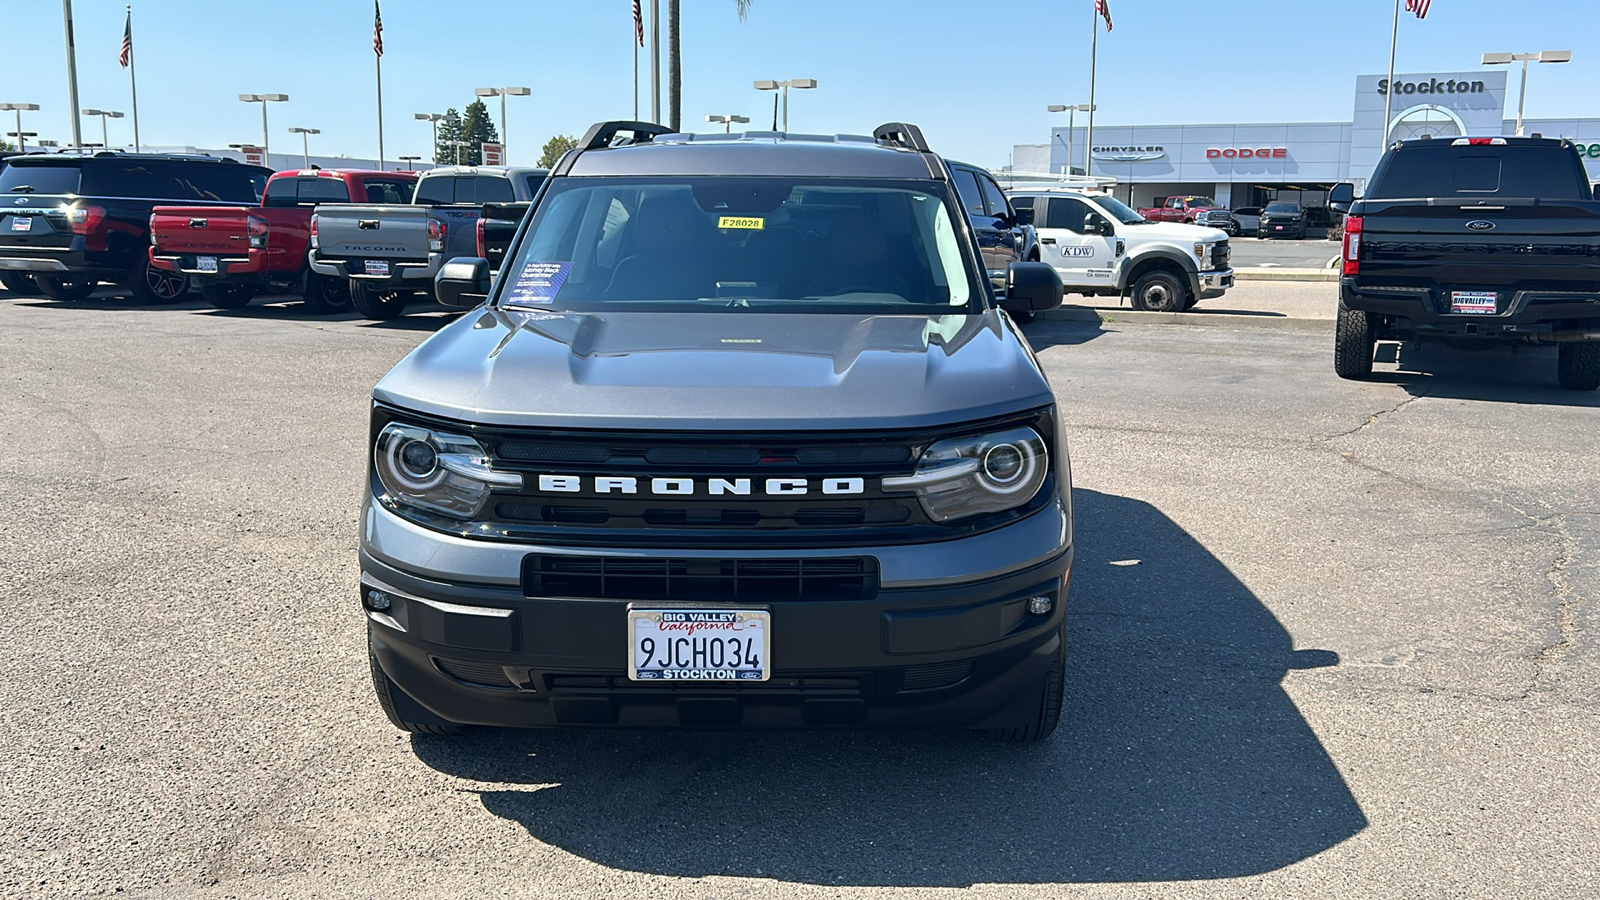
<svg viewBox="0 0 1600 900"><path fill-rule="evenodd" d="M1347 122L1355 75L1387 69L1390 0L1110 2L1099 123ZM693 130L712 128L707 114L770 125L771 94L750 82L811 77L819 90L792 94L794 131L915 122L947 155L1003 165L1011 144L1043 143L1064 119L1046 104L1088 101L1093 0L755 0L746 22L733 0L682 5ZM126 112L123 0L74 10L82 106ZM533 162L554 133L632 115L629 0L384 0L382 10L390 159L427 154L427 125L413 112L459 109L477 86L533 88L509 101L515 163ZM1402 13L1398 69L1470 70L1483 51L1570 48L1571 64L1536 67L1528 114L1597 115L1597 21L1581 0L1434 0L1424 22ZM301 125L322 128L312 152L376 155L371 0L134 0L133 24L146 143L256 141L259 106L237 94L286 93L270 110L277 151L298 147L285 130ZM61 0L0 0L0 102L40 104L24 128L66 143ZM645 90L642 104L648 117ZM99 139L98 120L83 128L85 141ZM114 144L131 136L126 119L112 123Z"/></svg>

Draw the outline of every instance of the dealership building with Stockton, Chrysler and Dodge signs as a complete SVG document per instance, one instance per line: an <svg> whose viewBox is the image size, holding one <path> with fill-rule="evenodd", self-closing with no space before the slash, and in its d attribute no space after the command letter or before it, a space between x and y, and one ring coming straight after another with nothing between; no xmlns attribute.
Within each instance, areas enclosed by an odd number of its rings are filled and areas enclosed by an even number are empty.
<svg viewBox="0 0 1600 900"><path fill-rule="evenodd" d="M1136 207L1181 194L1214 197L1234 208L1270 200L1322 207L1326 191L1341 181L1363 187L1390 141L1514 135L1515 107L1512 119L1506 117L1506 75L1504 69L1395 75L1392 91L1387 75L1362 75L1350 122L1098 125L1094 146L1088 146L1088 128L1078 117L1072 130L1051 130L1048 144L1018 144L1011 170L1083 171L1090 162L1093 175L1115 178L1117 197ZM1571 138L1590 181L1600 181L1600 119L1530 119L1523 131Z"/></svg>

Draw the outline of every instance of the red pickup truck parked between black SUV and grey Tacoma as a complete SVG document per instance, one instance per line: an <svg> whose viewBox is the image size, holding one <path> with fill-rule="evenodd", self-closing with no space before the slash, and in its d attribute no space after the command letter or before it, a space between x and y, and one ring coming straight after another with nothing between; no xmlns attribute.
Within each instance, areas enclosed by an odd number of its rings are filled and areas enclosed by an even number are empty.
<svg viewBox="0 0 1600 900"><path fill-rule="evenodd" d="M411 171L306 168L275 173L259 207L155 207L150 266L182 272L218 309L238 309L259 291L298 293L314 312L350 306L341 279L306 266L317 203L410 203Z"/></svg>

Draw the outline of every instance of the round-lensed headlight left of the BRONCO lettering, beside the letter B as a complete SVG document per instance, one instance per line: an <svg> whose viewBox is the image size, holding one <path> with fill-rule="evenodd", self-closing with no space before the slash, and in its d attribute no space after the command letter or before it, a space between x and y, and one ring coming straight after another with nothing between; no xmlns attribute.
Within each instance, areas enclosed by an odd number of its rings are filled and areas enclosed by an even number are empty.
<svg viewBox="0 0 1600 900"><path fill-rule="evenodd" d="M414 506L453 519L472 519L496 487L522 488L522 476L496 472L470 437L390 423L373 447L386 506Z"/></svg>

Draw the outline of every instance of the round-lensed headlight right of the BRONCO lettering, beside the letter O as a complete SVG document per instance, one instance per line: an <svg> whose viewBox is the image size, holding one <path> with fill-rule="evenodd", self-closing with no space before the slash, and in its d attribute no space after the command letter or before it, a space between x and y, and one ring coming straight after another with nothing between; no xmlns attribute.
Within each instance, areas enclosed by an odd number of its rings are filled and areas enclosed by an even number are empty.
<svg viewBox="0 0 1600 900"><path fill-rule="evenodd" d="M915 490L934 522L1000 512L1034 500L1050 472L1045 439L1032 428L941 440L909 476L883 479L885 490Z"/></svg>

